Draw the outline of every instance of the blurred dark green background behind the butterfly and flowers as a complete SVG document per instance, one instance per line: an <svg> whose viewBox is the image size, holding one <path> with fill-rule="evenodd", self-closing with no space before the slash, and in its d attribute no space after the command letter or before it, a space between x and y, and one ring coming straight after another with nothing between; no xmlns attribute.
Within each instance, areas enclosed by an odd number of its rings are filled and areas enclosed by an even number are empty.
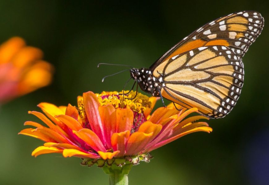
<svg viewBox="0 0 269 185"><path fill-rule="evenodd" d="M150 163L133 167L129 184L269 184L268 1L0 1L0 41L21 36L41 48L55 66L53 84L0 108L0 184L108 184L97 167L79 158L32 150L43 142L17 133L27 114L46 101L76 104L86 91L120 91L125 68L100 62L149 67L186 35L220 16L257 10L265 27L243 58L245 83L232 113L210 120L211 134L194 133L152 152ZM159 104L160 106L161 104Z"/></svg>

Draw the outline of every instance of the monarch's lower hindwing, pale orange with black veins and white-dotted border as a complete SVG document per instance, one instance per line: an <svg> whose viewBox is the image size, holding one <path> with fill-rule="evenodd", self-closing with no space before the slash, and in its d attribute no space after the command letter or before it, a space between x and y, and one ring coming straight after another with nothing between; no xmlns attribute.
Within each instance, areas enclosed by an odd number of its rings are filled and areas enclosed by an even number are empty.
<svg viewBox="0 0 269 185"><path fill-rule="evenodd" d="M201 114L212 118L224 117L236 104L244 70L230 48L199 47L163 64L153 75L159 74L155 77L164 80L161 89L164 98L186 108L197 107Z"/></svg>

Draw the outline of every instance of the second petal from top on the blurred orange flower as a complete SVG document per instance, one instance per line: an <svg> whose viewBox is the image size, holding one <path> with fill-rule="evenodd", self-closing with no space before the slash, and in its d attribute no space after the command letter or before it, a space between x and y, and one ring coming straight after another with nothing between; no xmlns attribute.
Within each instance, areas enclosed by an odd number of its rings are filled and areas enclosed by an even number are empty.
<svg viewBox="0 0 269 185"><path fill-rule="evenodd" d="M39 60L43 57L43 52L36 47L23 47L16 55L12 58L14 66L23 68L30 63Z"/></svg>

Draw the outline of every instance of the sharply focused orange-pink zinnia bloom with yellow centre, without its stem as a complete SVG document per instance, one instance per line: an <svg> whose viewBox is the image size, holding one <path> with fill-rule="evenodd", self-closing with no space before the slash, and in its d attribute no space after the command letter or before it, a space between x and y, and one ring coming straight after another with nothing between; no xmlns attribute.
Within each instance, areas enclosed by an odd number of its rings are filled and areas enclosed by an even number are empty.
<svg viewBox="0 0 269 185"><path fill-rule="evenodd" d="M197 131L210 133L212 129L203 116L192 116L196 108L177 110L173 104L160 107L150 115L156 97L147 97L131 91L122 101L118 92L83 93L78 97L78 107L57 107L40 103L45 113L29 112L40 118L46 126L26 121L28 128L19 134L43 140L32 156L47 153L62 153L64 157L79 158L124 158L147 154L186 134ZM128 99L129 98L129 99ZM54 124L53 124L54 123Z"/></svg>

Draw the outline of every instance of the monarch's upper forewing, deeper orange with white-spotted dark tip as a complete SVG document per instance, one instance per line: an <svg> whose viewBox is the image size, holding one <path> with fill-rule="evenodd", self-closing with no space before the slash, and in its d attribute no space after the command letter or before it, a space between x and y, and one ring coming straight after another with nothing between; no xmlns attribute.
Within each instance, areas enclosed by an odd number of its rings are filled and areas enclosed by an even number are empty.
<svg viewBox="0 0 269 185"><path fill-rule="evenodd" d="M257 11L242 11L221 17L185 37L160 57L150 69L175 55L203 46L227 46L241 58L260 35L263 25L263 17Z"/></svg>

